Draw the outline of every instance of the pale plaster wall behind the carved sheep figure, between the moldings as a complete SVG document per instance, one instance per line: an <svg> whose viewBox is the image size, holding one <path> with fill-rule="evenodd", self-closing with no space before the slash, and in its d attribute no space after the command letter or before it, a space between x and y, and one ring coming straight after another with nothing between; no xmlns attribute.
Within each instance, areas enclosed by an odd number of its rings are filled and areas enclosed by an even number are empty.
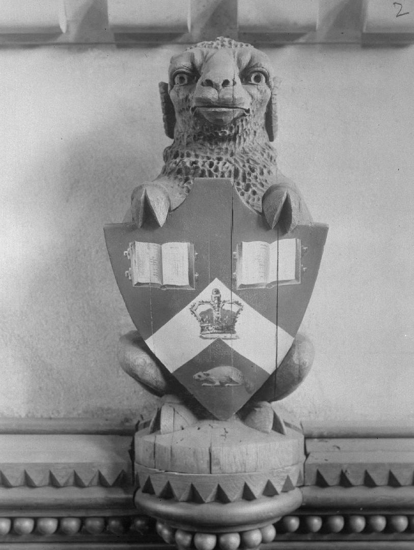
<svg viewBox="0 0 414 550"><path fill-rule="evenodd" d="M120 369L133 329L105 223L169 144L158 81L181 46L0 51L0 415L137 419L153 398ZM413 412L414 47L268 50L282 79L281 170L330 225L302 331L302 419Z"/></svg>

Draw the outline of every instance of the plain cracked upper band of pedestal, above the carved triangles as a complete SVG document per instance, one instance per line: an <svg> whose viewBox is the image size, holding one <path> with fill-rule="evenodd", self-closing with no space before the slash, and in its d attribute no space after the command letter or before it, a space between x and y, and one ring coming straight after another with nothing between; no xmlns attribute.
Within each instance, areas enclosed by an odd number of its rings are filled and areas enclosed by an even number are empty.
<svg viewBox="0 0 414 550"><path fill-rule="evenodd" d="M135 461L158 470L187 474L258 472L303 460L303 436L262 433L241 422L203 421L174 433L135 436Z"/></svg>

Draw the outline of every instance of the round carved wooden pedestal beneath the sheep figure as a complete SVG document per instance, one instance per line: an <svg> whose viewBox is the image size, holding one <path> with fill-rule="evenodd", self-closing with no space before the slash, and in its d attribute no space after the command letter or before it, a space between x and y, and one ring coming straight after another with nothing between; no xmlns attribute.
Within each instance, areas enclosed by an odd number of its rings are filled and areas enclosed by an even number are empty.
<svg viewBox="0 0 414 550"><path fill-rule="evenodd" d="M135 434L135 504L157 519L165 542L256 548L302 503L304 439L295 428L262 433L234 418L150 432Z"/></svg>

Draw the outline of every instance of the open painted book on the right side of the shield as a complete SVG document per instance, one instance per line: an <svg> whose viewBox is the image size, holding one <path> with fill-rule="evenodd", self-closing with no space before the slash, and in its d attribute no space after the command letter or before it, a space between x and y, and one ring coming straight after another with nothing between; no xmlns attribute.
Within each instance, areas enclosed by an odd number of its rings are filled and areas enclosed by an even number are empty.
<svg viewBox="0 0 414 550"><path fill-rule="evenodd" d="M300 283L301 243L280 239L273 243L251 241L236 248L237 288L266 288Z"/></svg>

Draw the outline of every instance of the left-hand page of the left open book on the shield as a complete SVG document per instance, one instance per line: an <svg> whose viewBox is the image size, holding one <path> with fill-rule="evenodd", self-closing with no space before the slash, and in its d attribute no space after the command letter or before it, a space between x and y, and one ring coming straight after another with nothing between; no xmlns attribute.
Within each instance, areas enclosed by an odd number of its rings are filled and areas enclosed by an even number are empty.
<svg viewBox="0 0 414 550"><path fill-rule="evenodd" d="M162 284L161 246L135 241L131 255L133 284Z"/></svg>

